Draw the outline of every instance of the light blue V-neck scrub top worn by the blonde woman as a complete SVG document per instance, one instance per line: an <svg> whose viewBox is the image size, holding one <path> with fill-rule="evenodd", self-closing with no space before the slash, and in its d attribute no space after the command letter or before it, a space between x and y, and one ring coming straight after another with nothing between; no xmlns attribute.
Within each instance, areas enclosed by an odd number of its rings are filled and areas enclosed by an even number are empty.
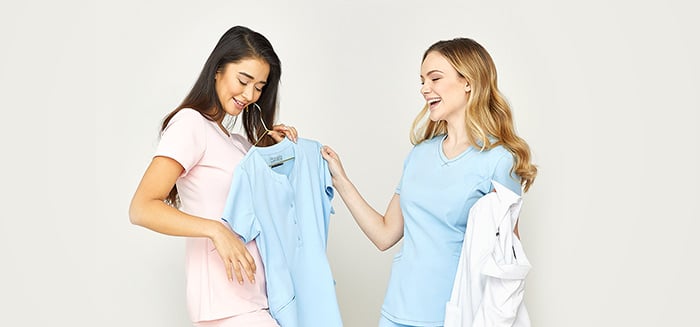
<svg viewBox="0 0 700 327"><path fill-rule="evenodd" d="M472 205L495 180L520 194L502 146L473 147L448 160L444 135L416 145L396 190L404 218L403 248L395 256L382 314L413 326L442 326Z"/></svg>

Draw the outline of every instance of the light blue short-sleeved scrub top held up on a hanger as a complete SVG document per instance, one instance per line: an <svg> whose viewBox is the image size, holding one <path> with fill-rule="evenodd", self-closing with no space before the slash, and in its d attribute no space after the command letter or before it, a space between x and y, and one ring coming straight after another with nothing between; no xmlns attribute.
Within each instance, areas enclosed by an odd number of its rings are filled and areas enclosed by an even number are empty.
<svg viewBox="0 0 700 327"><path fill-rule="evenodd" d="M326 257L333 188L320 149L301 138L251 148L233 174L224 210L224 221L245 242L257 239L270 313L284 327L342 326Z"/></svg>

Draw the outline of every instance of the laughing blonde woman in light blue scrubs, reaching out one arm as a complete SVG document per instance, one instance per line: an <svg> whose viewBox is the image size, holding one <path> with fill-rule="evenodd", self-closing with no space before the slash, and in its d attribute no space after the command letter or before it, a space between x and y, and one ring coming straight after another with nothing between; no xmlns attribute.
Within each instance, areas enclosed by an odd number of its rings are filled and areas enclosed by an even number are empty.
<svg viewBox="0 0 700 327"><path fill-rule="evenodd" d="M333 185L377 248L404 238L381 327L442 326L469 209L493 191L492 180L521 194L537 174L498 90L493 60L480 44L468 38L433 44L423 55L420 78L426 105L413 124L415 147L384 215L363 199L338 155L322 149Z"/></svg>

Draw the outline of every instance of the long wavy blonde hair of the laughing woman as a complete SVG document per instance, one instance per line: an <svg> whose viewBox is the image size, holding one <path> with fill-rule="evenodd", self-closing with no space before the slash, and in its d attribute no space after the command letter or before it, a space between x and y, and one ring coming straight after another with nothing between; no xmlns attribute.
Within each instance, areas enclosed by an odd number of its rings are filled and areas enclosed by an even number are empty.
<svg viewBox="0 0 700 327"><path fill-rule="evenodd" d="M515 158L511 173L520 176L520 183L527 192L535 181L537 167L530 162L530 146L515 132L510 106L498 90L496 65L491 55L479 43L468 38L436 42L425 51L423 61L431 52L445 57L471 85L465 108L469 142L481 145L482 151L498 145L508 149ZM411 143L414 145L447 133L447 122L426 119L427 113L426 104L413 121Z"/></svg>

